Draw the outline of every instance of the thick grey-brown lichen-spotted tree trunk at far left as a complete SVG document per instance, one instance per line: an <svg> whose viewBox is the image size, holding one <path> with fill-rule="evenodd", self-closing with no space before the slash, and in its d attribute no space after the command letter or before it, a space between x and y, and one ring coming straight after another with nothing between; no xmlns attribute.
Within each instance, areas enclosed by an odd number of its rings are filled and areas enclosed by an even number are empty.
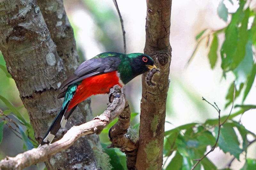
<svg viewBox="0 0 256 170"><path fill-rule="evenodd" d="M57 100L56 96L61 82L67 78L65 69L33 0L6 0L0 3L0 11L0 49L39 142L62 105L63 100ZM89 105L90 101L87 102ZM73 125L84 122L83 115L76 110L56 139ZM86 138L80 138L69 150L56 154L46 165L49 169L100 168Z"/></svg>

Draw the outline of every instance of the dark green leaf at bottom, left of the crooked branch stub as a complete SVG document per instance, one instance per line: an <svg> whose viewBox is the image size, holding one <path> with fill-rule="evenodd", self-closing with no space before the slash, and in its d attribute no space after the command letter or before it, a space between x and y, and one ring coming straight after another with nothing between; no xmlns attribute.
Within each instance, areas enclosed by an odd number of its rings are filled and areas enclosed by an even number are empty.
<svg viewBox="0 0 256 170"><path fill-rule="evenodd" d="M110 164L113 166L112 170L124 170L124 167L122 166L120 162L119 156L116 154L115 149L113 148L107 148L107 145L104 143L101 143L102 149L105 153L108 154L110 158Z"/></svg>

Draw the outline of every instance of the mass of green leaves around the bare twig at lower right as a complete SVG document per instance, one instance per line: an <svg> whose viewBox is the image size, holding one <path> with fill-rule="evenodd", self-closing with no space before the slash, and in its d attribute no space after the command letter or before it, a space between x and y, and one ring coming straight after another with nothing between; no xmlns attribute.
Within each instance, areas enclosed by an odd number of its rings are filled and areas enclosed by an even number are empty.
<svg viewBox="0 0 256 170"><path fill-rule="evenodd" d="M224 117L222 117L221 120L223 120L223 118ZM196 163L195 159L201 159L204 156L206 147L213 147L216 143L218 127L218 121L207 120L203 124L190 123L166 131L164 155L165 157L170 157L175 153L175 156L165 170L190 170ZM239 133L235 132L235 128L238 129ZM220 129L220 137L217 146L219 146L223 152L229 152L239 160L239 155L243 151L246 152L248 144L246 138L247 134L251 134L251 132L247 131L242 124L236 121L226 122ZM240 136L243 141L238 140ZM240 148L240 145L243 147ZM205 170L217 170L216 166L207 157L202 159L200 164ZM200 166L197 166L195 169L200 170Z"/></svg>

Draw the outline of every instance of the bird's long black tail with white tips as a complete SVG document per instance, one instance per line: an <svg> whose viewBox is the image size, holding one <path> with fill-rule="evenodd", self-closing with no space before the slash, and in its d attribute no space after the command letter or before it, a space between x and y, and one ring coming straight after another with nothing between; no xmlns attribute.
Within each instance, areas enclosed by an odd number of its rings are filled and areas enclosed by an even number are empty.
<svg viewBox="0 0 256 170"><path fill-rule="evenodd" d="M51 144L53 138L55 137L55 135L59 131L60 127L62 127L62 128L65 127L65 125L66 125L66 123L68 121L69 116L72 114L72 112L77 107L77 105L76 105L75 107L73 107L72 109L70 109L68 111L69 103L70 103L70 100L68 102L64 102L63 103L63 106L62 106L59 114L57 115L57 117L52 122L52 125L48 129L46 135L44 136L41 144L38 147L40 147L41 145L44 145L44 144Z"/></svg>

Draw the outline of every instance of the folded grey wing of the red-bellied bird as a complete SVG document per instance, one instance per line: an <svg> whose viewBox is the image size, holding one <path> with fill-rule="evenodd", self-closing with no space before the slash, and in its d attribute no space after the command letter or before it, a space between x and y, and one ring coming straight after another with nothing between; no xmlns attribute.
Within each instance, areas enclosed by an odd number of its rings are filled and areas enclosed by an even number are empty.
<svg viewBox="0 0 256 170"><path fill-rule="evenodd" d="M84 78L115 71L120 63L121 59L118 57L92 58L85 61L77 67L74 74L60 85L58 99L65 96L69 85Z"/></svg>

